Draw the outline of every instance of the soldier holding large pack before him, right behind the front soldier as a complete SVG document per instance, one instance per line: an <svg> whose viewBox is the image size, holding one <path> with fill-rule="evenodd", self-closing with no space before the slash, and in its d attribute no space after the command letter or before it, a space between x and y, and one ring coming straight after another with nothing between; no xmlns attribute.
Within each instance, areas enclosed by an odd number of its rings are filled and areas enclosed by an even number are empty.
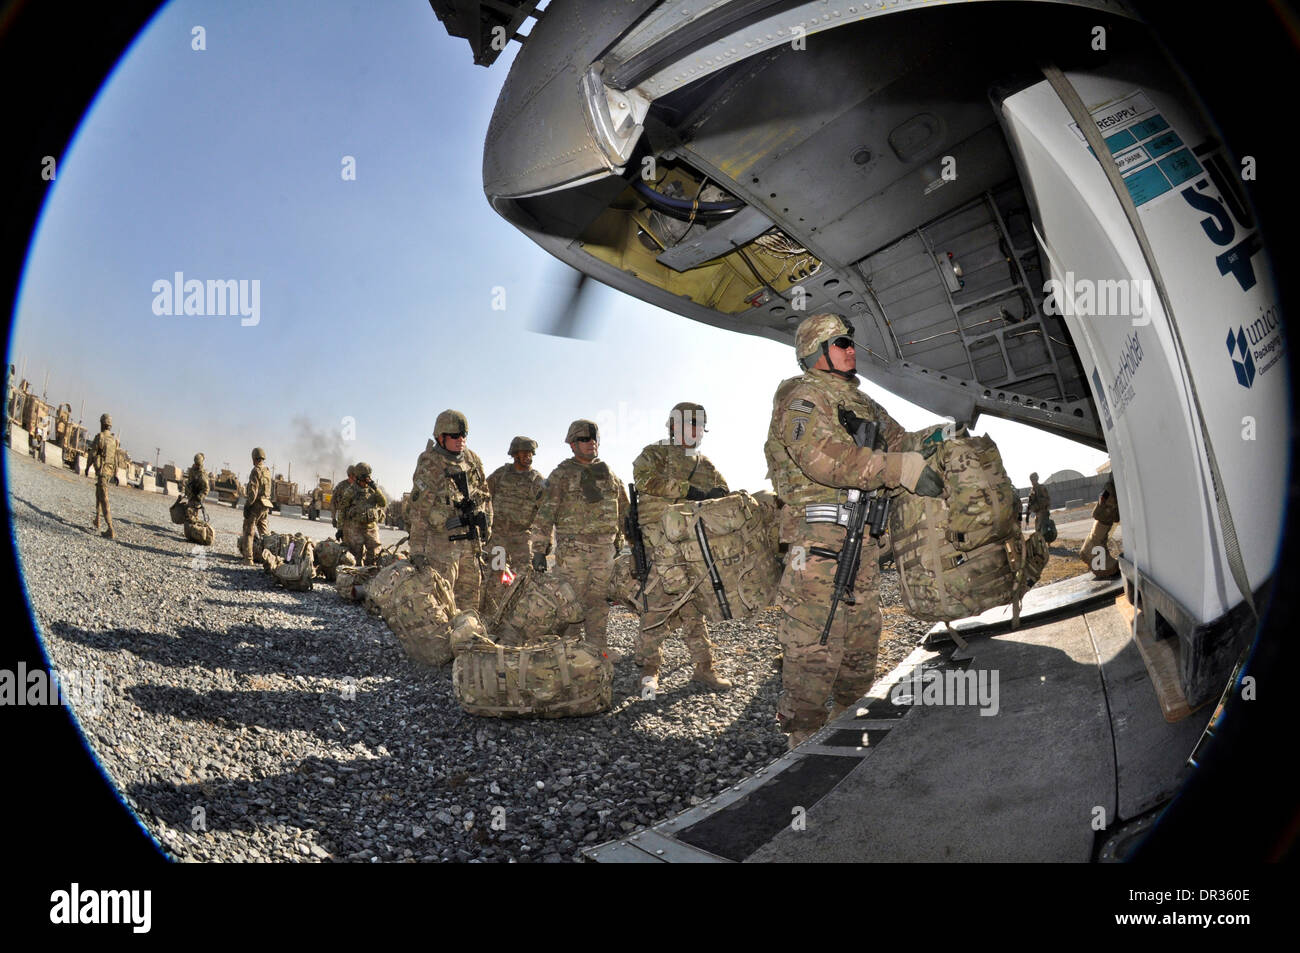
<svg viewBox="0 0 1300 953"><path fill-rule="evenodd" d="M707 420L701 404L690 402L676 404L668 415L668 439L647 446L632 464L633 482L637 485L637 516L642 527L658 521L663 511L673 503L718 499L727 495L727 481L708 458L699 452ZM654 562L653 555L650 559ZM696 606L694 598L666 619L654 611L641 616L636 660L641 666L642 686L651 692L658 690L662 660L659 646L679 624L690 659L696 663L692 681L710 688L731 688L732 683L714 671L708 631L703 612Z"/></svg>

